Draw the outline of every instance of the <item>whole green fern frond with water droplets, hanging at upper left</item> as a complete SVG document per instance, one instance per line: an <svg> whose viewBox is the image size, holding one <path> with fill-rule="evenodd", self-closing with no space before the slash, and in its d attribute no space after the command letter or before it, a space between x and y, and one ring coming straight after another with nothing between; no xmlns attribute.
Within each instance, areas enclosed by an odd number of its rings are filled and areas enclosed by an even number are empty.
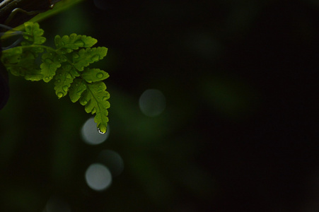
<svg viewBox="0 0 319 212"><path fill-rule="evenodd" d="M54 37L55 49L43 45L44 31L37 23L24 23L25 40L21 47L2 51L1 61L15 76L23 76L30 81L54 78L54 90L58 98L69 92L71 102L79 100L88 113L95 114L95 122L100 132L105 133L108 125L110 94L102 81L109 77L100 69L87 66L106 56L108 49L93 47L97 40L86 35L59 35ZM42 54L40 54L42 53ZM37 60L41 60L40 64Z"/></svg>

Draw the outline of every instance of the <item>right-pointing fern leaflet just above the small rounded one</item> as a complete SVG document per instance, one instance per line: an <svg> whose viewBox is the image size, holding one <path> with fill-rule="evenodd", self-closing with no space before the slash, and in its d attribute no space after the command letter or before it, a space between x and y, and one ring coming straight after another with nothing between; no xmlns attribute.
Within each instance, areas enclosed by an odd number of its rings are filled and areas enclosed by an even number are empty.
<svg viewBox="0 0 319 212"><path fill-rule="evenodd" d="M108 49L105 47L81 49L78 53L73 53L74 67L79 71L83 71L84 67L99 61L106 56Z"/></svg>

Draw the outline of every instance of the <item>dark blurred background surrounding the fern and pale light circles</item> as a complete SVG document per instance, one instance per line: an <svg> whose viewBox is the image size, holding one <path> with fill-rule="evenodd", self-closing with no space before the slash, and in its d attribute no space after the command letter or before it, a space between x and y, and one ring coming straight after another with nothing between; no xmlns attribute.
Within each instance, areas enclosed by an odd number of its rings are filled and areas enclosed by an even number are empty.
<svg viewBox="0 0 319 212"><path fill-rule="evenodd" d="M83 106L10 75L1 211L52 196L71 211L319 211L318 1L83 1L40 26L49 44L108 47L110 136L83 143ZM139 110L149 88L158 117ZM124 171L95 192L84 172L105 149Z"/></svg>

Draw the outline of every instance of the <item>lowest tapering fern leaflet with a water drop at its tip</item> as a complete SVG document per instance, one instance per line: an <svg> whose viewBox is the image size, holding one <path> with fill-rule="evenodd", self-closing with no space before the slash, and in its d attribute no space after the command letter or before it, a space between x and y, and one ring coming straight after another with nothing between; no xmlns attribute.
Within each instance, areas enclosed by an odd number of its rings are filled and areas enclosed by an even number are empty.
<svg viewBox="0 0 319 212"><path fill-rule="evenodd" d="M108 108L110 94L105 90L103 82L89 83L87 89L80 98L81 105L85 105L86 112L95 114L94 121L98 124L98 129L102 133L106 132L108 126Z"/></svg>

